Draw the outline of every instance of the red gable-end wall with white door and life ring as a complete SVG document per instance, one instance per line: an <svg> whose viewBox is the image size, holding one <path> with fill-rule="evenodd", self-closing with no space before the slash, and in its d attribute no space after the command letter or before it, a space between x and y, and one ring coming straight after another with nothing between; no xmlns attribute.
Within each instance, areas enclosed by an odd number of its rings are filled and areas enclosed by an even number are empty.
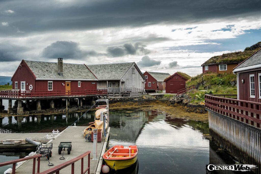
<svg viewBox="0 0 261 174"><path fill-rule="evenodd" d="M33 85L33 90L35 90L34 75L24 61L20 65L12 77L13 89L15 89L15 82L18 82L18 89L21 89L21 81L25 81L25 90L29 90L30 85Z"/></svg>

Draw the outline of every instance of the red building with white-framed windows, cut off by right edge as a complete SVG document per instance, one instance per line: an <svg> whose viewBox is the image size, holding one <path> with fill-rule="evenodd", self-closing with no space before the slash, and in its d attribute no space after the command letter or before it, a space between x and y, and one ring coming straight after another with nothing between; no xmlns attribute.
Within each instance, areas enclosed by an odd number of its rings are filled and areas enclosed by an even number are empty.
<svg viewBox="0 0 261 174"><path fill-rule="evenodd" d="M240 63L237 75L238 100L261 103L261 49Z"/></svg>

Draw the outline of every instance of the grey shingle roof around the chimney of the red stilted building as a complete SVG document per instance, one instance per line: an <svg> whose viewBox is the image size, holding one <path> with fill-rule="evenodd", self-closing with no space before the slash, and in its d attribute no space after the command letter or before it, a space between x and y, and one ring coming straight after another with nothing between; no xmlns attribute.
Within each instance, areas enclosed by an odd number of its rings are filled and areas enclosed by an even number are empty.
<svg viewBox="0 0 261 174"><path fill-rule="evenodd" d="M36 78L39 79L90 79L97 78L84 64L63 63L63 76L59 76L57 62L41 62L25 60Z"/></svg>

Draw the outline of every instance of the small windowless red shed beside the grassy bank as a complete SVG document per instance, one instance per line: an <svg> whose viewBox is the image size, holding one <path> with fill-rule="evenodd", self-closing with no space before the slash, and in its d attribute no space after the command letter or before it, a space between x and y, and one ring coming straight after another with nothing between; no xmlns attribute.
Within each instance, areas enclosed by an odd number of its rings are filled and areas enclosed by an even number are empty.
<svg viewBox="0 0 261 174"><path fill-rule="evenodd" d="M166 93L176 94L178 90L186 87L187 80L186 77L176 72L164 80L164 82L166 82Z"/></svg>

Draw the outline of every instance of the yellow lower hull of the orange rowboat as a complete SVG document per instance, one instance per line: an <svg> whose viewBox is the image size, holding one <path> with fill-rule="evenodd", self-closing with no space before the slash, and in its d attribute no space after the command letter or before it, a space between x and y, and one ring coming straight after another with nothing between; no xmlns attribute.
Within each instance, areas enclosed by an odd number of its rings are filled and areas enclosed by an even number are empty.
<svg viewBox="0 0 261 174"><path fill-rule="evenodd" d="M107 166L114 170L125 169L132 166L137 161L137 155L132 159L127 160L106 160L104 159ZM115 164L115 165L114 165Z"/></svg>

